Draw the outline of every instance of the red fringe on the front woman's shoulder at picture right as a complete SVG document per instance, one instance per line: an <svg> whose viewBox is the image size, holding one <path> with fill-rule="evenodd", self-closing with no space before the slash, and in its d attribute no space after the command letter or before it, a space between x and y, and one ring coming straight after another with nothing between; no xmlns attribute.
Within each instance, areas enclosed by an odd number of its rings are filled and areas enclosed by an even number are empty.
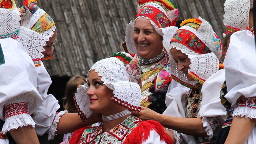
<svg viewBox="0 0 256 144"><path fill-rule="evenodd" d="M138 127L132 130L123 144L142 144L142 141L148 139L150 131L153 129L160 135L161 140L167 144L173 144L173 140L165 132L165 128L157 121L143 121L140 123Z"/></svg>

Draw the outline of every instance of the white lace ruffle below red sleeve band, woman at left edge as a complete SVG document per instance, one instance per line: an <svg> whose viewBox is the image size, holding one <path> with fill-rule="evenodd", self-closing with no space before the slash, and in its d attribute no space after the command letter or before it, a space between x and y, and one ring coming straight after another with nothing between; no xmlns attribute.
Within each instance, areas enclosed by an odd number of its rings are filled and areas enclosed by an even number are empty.
<svg viewBox="0 0 256 144"><path fill-rule="evenodd" d="M3 125L2 133L6 134L11 129L17 129L19 127L32 125L35 128L35 122L27 113L22 113L19 115L13 115L11 117L6 118L5 123Z"/></svg>

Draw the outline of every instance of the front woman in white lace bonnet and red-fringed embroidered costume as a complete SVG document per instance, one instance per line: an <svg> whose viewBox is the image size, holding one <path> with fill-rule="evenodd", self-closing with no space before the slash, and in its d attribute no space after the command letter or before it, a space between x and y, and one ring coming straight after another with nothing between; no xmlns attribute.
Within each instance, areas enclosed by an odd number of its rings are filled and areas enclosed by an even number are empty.
<svg viewBox="0 0 256 144"><path fill-rule="evenodd" d="M101 113L103 122L76 130L69 144L173 143L158 122L130 115L130 111L140 111L142 79L137 55L114 53L96 62L87 76L87 83L75 94L76 109L86 117Z"/></svg>

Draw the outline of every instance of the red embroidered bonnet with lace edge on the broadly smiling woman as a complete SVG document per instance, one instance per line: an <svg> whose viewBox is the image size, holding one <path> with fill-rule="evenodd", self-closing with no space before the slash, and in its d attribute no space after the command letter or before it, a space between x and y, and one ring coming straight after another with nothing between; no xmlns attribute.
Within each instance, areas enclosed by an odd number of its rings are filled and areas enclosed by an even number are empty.
<svg viewBox="0 0 256 144"><path fill-rule="evenodd" d="M154 13L154 14L153 14ZM152 14L152 15L151 15ZM157 18L157 15L160 14ZM127 53L137 54L137 50L133 41L133 27L136 19L140 17L145 17L150 20L151 24L154 26L155 30L163 39L163 52L165 52L165 57L167 61L169 60L169 50L170 50L170 37L178 30L175 27L178 9L171 0L139 0L138 4L138 14L135 20L127 24L125 33L125 42L121 44L124 51ZM165 31L168 39L163 36L163 31Z"/></svg>

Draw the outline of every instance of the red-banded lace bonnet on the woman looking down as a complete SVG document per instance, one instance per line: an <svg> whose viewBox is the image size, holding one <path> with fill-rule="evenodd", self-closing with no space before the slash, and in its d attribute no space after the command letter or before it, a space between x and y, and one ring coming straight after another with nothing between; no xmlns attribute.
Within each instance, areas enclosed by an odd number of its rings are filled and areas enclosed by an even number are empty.
<svg viewBox="0 0 256 144"><path fill-rule="evenodd" d="M181 50L190 58L188 73L194 81L189 81L183 72L178 71L177 63L170 56L171 76L182 85L193 89L196 83L203 84L218 71L221 40L203 18L184 20L170 45L171 49Z"/></svg>

